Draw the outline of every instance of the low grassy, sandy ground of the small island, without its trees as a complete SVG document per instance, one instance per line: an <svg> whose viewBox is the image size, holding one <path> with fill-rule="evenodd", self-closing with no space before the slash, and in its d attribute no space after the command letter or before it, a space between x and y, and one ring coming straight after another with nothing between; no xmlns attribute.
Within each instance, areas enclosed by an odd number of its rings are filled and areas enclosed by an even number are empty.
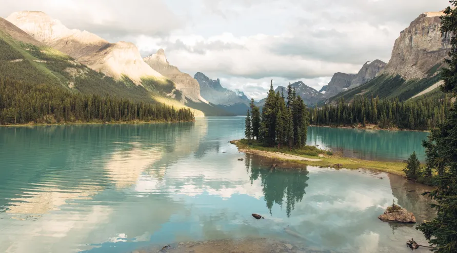
<svg viewBox="0 0 457 253"><path fill-rule="evenodd" d="M261 155L264 157L275 159L276 161L283 163L283 164L296 164L296 165L310 165L310 166L320 166L320 167L332 167L332 168L346 168L346 169L373 169L378 171L383 171L387 173L392 173L395 175L405 176L403 172L403 168L406 166L405 163L402 162L382 162L382 161L373 161L373 160L362 160L357 158L350 158L350 157L340 157L331 154L326 154L325 150L320 150L319 155L307 155L303 154L306 152L301 152L297 150L289 151L286 149L281 149L281 153L286 153L290 155L295 155L299 157L305 157L309 159L319 158L320 161L315 160L298 160L292 158L279 158L277 154L279 152L276 148L265 148L260 147L259 145L251 144L248 145L247 141L242 140L235 140L231 141L231 144L236 145L240 152L250 153L252 150L257 151L264 151L262 153L254 153L256 155ZM307 150L314 151L315 147L307 146ZM267 154L268 153L268 154Z"/></svg>

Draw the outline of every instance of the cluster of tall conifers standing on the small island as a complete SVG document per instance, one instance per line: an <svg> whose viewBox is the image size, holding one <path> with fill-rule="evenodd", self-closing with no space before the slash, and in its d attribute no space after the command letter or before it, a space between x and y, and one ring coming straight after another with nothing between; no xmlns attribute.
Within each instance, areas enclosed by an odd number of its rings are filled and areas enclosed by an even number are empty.
<svg viewBox="0 0 457 253"><path fill-rule="evenodd" d="M302 148L306 145L308 125L308 109L302 98L296 95L295 89L290 85L287 87L286 103L284 94L274 92L271 81L262 114L251 101L245 136L248 141L255 137L265 147Z"/></svg>

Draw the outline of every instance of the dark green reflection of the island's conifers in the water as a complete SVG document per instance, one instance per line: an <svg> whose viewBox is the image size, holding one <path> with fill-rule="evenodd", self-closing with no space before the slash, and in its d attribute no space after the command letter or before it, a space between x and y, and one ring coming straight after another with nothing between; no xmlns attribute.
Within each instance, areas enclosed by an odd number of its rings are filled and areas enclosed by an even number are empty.
<svg viewBox="0 0 457 253"><path fill-rule="evenodd" d="M302 201L306 193L309 172L306 169L271 170L271 164L262 163L259 157L250 154L246 155L245 165L246 171L250 173L251 185L260 178L264 200L267 202L270 215L272 215L273 204L279 204L282 207L285 201L286 214L287 217L290 217L295 203Z"/></svg>

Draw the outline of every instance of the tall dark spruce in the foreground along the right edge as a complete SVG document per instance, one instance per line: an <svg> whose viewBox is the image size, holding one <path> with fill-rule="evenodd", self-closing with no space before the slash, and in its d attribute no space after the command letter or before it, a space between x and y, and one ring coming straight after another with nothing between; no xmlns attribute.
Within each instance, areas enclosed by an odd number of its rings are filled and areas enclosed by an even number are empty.
<svg viewBox="0 0 457 253"><path fill-rule="evenodd" d="M457 1L449 1L457 6ZM443 36L452 36L449 59L441 71L444 93L457 97L457 9L448 7L441 17ZM438 202L432 207L438 211L436 217L418 226L425 238L439 253L457 252L457 102L454 101L449 118L438 129L431 132L431 139L436 143L436 164L443 165L443 173L438 175L436 189L429 196Z"/></svg>

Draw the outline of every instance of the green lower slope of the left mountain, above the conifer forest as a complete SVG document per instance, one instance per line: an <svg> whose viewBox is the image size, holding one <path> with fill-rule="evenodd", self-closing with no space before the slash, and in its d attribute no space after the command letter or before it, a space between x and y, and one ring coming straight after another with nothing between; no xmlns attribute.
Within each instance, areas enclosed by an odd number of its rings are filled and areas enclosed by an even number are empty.
<svg viewBox="0 0 457 253"><path fill-rule="evenodd" d="M180 91L173 89L173 83L164 86L163 83L148 79L144 80L144 86L137 86L128 77L116 81L36 41L3 18L0 18L0 74L31 84L59 85L83 94L109 95L188 108L167 96L177 99L182 96ZM192 111L195 116L204 116L200 110Z"/></svg>

